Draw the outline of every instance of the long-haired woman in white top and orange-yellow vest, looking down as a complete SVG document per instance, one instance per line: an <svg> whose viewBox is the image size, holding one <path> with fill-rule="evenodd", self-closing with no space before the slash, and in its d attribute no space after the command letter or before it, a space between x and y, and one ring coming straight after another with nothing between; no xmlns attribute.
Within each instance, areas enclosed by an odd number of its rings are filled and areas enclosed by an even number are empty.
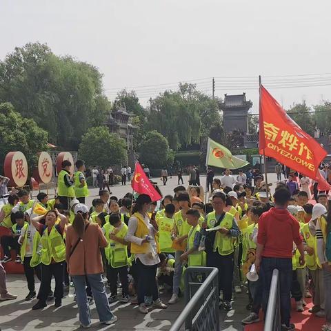
<svg viewBox="0 0 331 331"><path fill-rule="evenodd" d="M156 230L150 223L148 212L152 200L147 194L140 194L136 199L129 219L126 240L131 242L131 253L135 256L138 274L138 304L139 312L148 314L145 296L152 296L154 308L167 308L159 299L157 289L157 265L159 259L159 244L155 237Z"/></svg>

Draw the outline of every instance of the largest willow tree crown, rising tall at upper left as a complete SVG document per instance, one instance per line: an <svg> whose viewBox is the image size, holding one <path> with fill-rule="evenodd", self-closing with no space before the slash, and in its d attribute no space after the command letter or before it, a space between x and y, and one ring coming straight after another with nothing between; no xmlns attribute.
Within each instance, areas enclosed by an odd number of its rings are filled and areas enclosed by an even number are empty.
<svg viewBox="0 0 331 331"><path fill-rule="evenodd" d="M50 142L77 149L88 128L110 110L102 75L88 63L57 57L47 45L28 43L0 61L0 102L49 133Z"/></svg>

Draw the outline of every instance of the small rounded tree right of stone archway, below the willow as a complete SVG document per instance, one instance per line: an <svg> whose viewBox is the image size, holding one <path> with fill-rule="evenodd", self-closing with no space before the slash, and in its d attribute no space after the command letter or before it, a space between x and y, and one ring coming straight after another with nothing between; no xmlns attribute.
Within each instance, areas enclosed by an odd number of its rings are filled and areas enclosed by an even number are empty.
<svg viewBox="0 0 331 331"><path fill-rule="evenodd" d="M141 142L140 161L152 168L161 168L174 161L174 155L165 137L157 130L147 132Z"/></svg>

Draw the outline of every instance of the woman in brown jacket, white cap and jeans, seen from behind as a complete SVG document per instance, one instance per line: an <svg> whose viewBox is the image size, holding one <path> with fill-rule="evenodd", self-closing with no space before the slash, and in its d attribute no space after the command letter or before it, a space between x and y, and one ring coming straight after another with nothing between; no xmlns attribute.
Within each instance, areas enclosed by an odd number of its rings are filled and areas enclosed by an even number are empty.
<svg viewBox="0 0 331 331"><path fill-rule="evenodd" d="M101 323L112 324L117 321L117 317L110 311L101 275L103 266L100 248L105 248L108 241L97 223L89 223L86 205L76 205L74 214L74 222L67 229L66 261L76 290L79 321L82 328L90 327L90 307L86 295L88 279Z"/></svg>

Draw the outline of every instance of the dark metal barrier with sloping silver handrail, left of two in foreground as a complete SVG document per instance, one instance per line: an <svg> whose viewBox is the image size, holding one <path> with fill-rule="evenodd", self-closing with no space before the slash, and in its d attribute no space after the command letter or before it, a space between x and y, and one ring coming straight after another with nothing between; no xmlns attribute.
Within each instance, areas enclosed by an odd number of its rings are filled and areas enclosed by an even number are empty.
<svg viewBox="0 0 331 331"><path fill-rule="evenodd" d="M219 331L219 270L189 267L184 277L185 308L170 331Z"/></svg>

